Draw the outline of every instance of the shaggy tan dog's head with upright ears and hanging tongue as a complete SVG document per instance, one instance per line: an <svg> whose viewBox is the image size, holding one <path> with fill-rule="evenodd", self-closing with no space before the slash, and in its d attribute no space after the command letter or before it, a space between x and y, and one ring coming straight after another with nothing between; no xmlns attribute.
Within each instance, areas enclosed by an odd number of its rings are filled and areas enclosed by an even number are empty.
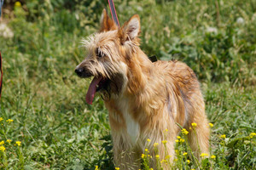
<svg viewBox="0 0 256 170"><path fill-rule="evenodd" d="M92 104L97 91L108 97L123 92L128 81L127 65L139 46L139 32L137 14L118 27L103 10L100 31L82 41L88 54L75 69L79 77L93 77L86 94L88 104Z"/></svg>

